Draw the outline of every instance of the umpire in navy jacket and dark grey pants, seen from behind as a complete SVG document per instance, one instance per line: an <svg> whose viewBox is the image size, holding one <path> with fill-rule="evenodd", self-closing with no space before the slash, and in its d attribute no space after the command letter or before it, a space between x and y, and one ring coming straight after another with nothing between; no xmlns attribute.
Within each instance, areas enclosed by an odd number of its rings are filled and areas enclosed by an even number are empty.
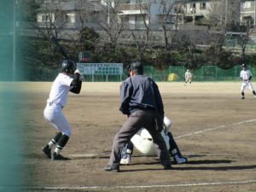
<svg viewBox="0 0 256 192"><path fill-rule="evenodd" d="M131 140L137 131L145 127L153 137L154 146L161 165L171 169L171 160L164 138L161 136L164 106L160 91L154 81L143 75L143 65L133 62L129 67L129 78L120 86L121 106L119 110L128 115L122 128L113 138L112 152L107 172L119 172L119 162L124 143Z"/></svg>

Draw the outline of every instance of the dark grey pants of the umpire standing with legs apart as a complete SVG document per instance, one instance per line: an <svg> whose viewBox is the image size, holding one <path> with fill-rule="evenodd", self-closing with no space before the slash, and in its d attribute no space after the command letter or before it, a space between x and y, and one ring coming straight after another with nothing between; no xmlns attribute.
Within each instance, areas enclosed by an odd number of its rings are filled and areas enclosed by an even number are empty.
<svg viewBox="0 0 256 192"><path fill-rule="evenodd" d="M131 140L137 131L142 127L146 128L153 138L156 153L160 158L160 163L163 166L170 166L171 160L169 152L166 148L164 138L159 131L155 129L155 112L153 110L138 110L131 113L129 118L125 121L120 131L113 138L112 152L108 166L119 166L121 160L121 152L125 143Z"/></svg>

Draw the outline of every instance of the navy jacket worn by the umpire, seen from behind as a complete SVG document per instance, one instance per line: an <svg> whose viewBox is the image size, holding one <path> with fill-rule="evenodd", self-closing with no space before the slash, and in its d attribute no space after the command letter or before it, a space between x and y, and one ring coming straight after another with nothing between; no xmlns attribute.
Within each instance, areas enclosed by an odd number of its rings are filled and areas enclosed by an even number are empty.
<svg viewBox="0 0 256 192"><path fill-rule="evenodd" d="M120 100L119 110L127 115L142 109L153 109L164 114L157 84L144 75L137 74L125 79L120 86Z"/></svg>

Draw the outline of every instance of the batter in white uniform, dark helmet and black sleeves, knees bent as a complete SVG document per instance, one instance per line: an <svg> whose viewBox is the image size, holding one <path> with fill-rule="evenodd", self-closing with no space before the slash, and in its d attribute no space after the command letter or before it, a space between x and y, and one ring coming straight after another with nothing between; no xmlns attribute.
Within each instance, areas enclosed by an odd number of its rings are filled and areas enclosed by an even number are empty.
<svg viewBox="0 0 256 192"><path fill-rule="evenodd" d="M65 60L61 64L61 73L56 77L49 92L44 118L57 129L58 132L42 150L47 158L51 160L67 160L63 157L61 149L65 147L69 137L71 137L71 127L62 113L62 108L67 103L68 92L79 94L84 76L75 70L74 62ZM55 146L56 145L56 146ZM51 148L55 151L51 154Z"/></svg>

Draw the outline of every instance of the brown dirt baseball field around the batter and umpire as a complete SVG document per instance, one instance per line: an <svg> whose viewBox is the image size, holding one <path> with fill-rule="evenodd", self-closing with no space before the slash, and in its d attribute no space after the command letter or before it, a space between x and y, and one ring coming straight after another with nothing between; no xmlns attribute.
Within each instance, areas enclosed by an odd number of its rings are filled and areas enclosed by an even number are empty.
<svg viewBox="0 0 256 192"><path fill-rule="evenodd" d="M41 153L55 129L44 120L51 83L22 83L26 95L26 191L256 191L256 98L240 83L158 83L172 134L189 164L164 171L155 157L137 150L121 172L104 172L114 134L125 121L120 83L86 83L63 109L73 136L51 161ZM255 83L254 83L255 84ZM255 84L256 86L256 84Z"/></svg>

